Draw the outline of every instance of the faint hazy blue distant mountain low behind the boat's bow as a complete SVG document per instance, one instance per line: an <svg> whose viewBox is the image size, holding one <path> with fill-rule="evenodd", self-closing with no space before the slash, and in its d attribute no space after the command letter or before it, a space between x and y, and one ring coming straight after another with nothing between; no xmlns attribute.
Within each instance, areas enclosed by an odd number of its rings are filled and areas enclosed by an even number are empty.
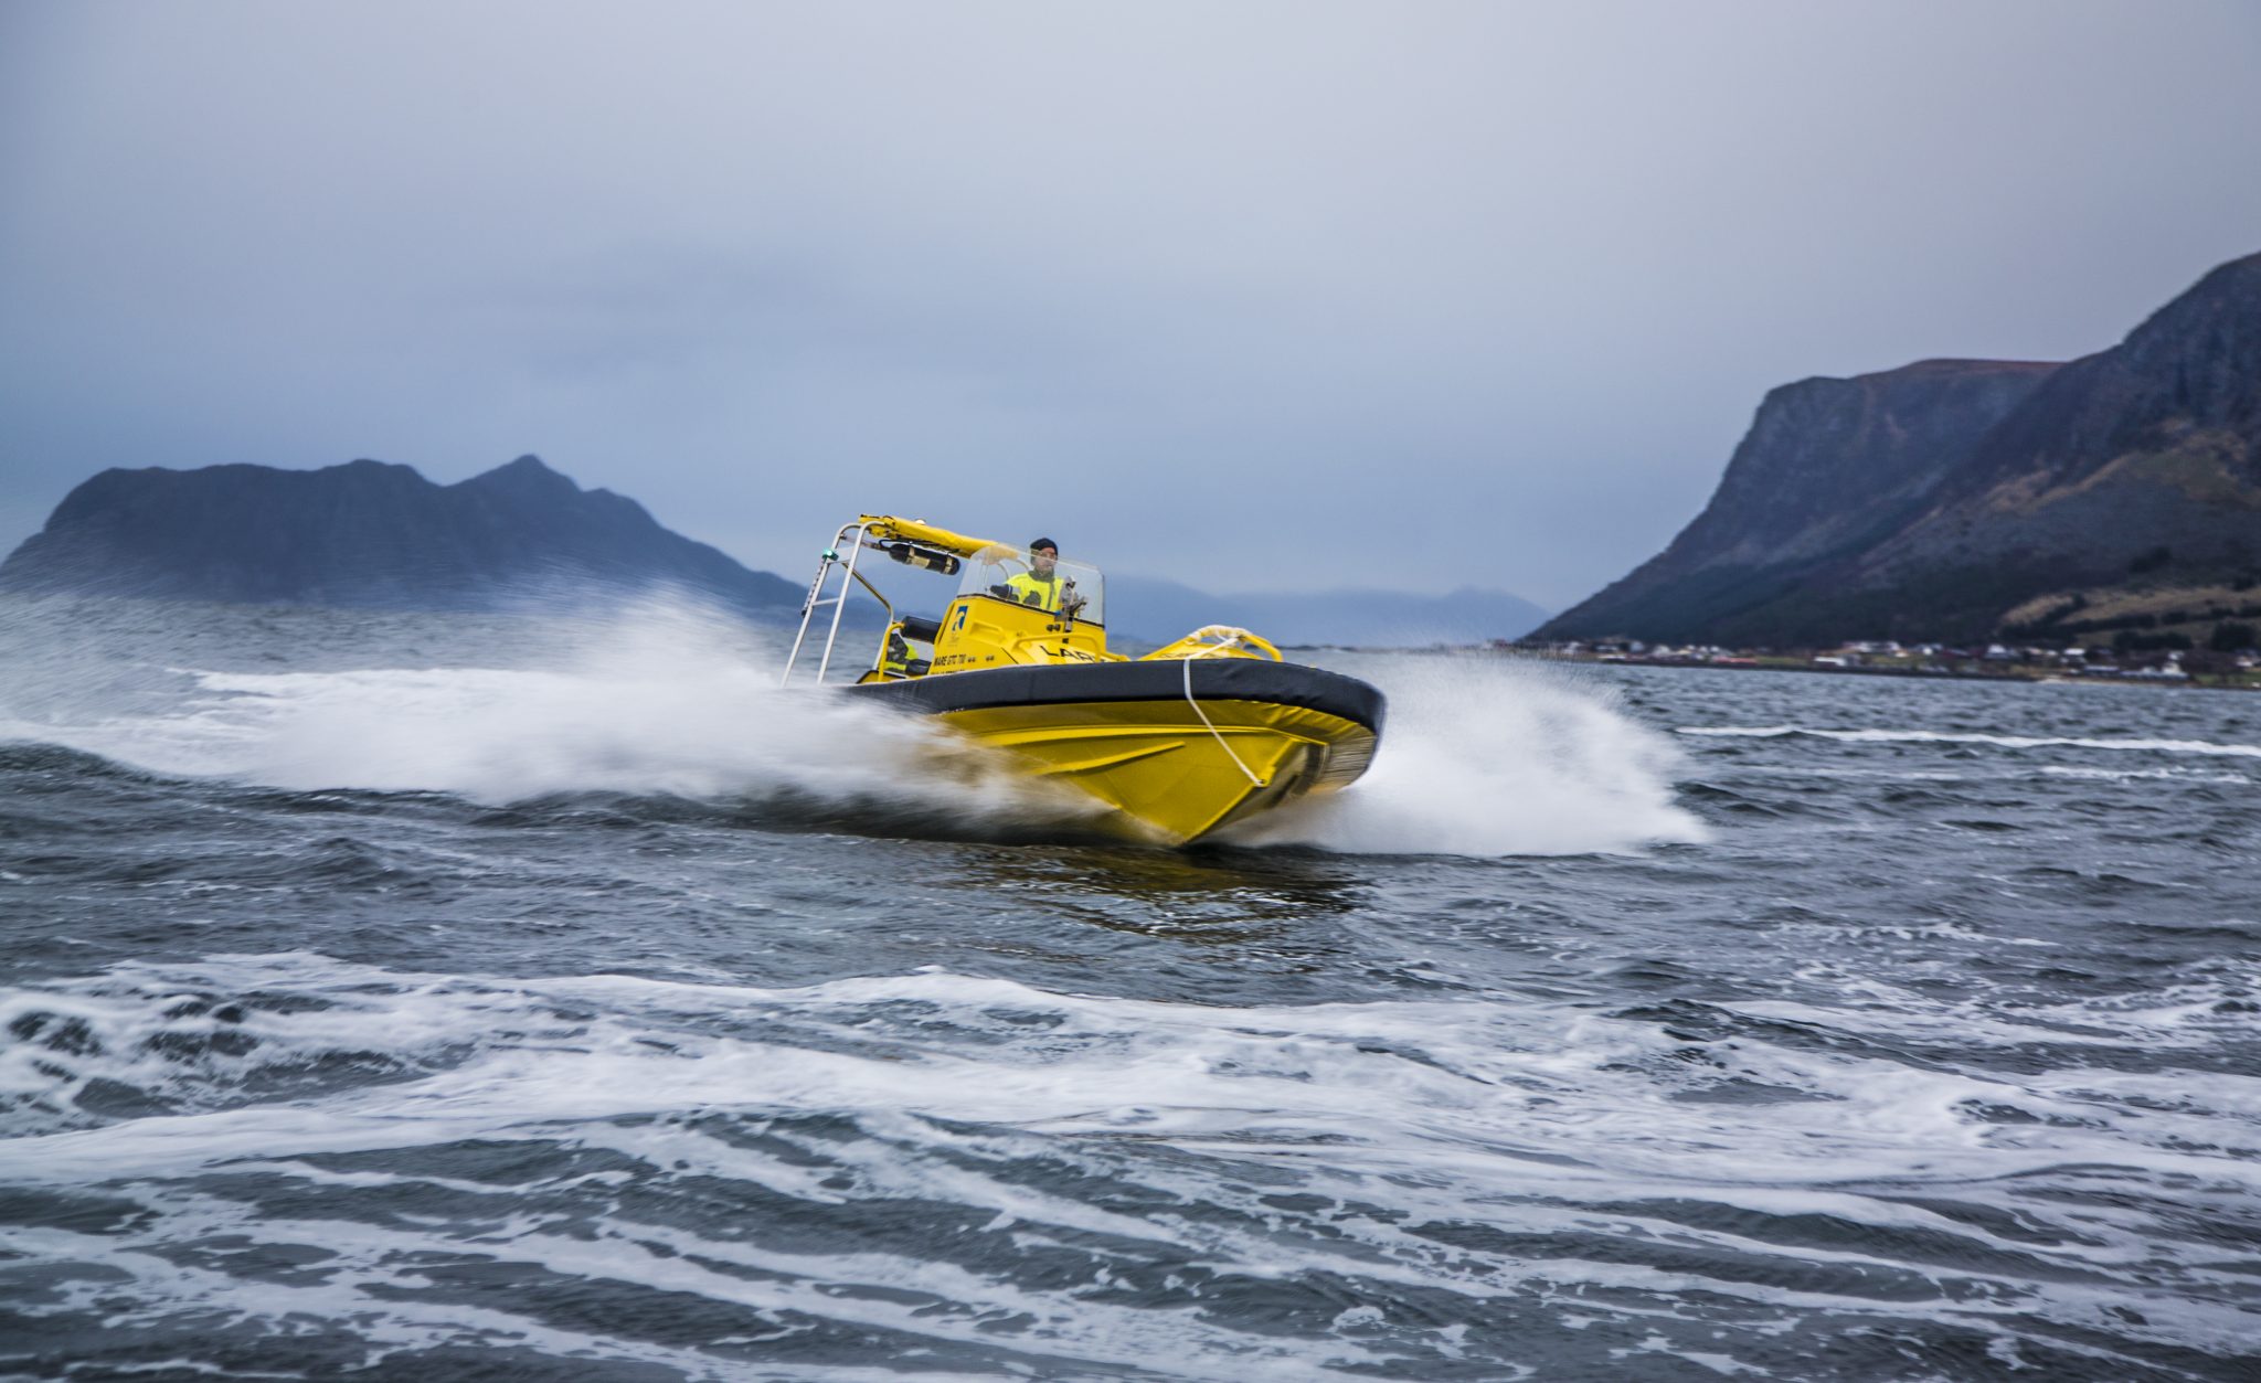
<svg viewBox="0 0 2261 1383"><path fill-rule="evenodd" d="M1542 619L1547 610L1499 590L1212 597L1176 581L1108 576L1108 633L1144 644L1167 644L1203 624L1237 624L1275 644L1420 649L1513 640Z"/></svg>

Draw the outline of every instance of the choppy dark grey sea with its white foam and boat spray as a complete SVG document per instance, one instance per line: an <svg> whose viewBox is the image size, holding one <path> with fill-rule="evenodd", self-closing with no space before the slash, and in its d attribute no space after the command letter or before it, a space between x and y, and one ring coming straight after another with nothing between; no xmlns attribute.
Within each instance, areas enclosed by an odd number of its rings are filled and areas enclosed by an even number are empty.
<svg viewBox="0 0 2261 1383"><path fill-rule="evenodd" d="M2261 698L1329 662L1153 852L685 610L0 603L0 1374L2261 1372Z"/></svg>

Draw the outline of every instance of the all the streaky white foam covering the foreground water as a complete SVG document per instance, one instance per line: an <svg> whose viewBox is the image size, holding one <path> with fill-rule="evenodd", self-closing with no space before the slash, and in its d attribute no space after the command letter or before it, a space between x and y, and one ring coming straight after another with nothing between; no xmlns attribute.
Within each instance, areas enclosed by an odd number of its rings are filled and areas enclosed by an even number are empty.
<svg viewBox="0 0 2261 1383"><path fill-rule="evenodd" d="M1655 1019L1576 1003L1458 997L1221 1008L1054 994L945 972L803 988L629 976L466 981L307 954L122 965L109 976L9 999L18 1015L41 1006L124 1012L133 1003L161 1010L190 992L323 999L328 1008L269 1012L249 1024L260 1051L246 1060L287 1069L341 1042L359 1044L384 1026L405 1078L215 1107L224 1101L197 1094L199 1082L215 1080L206 1069L151 1076L131 1053L50 1053L57 1064L77 1064L75 1080L156 1080L158 1094L201 1103L203 1112L7 1139L0 1141L0 1180L133 1186L231 1171L326 1180L339 1173L301 1159L454 1139L549 1141L610 1148L647 1168L642 1175L760 1184L812 1204L959 1204L1026 1243L1124 1238L1235 1275L1291 1275L1318 1261L1359 1277L1472 1297L1571 1279L1641 1293L1705 1290L1786 1308L1886 1315L1931 1315L1935 1308L1924 1299L1847 1299L1576 1254L1542 1261L1483 1247L1438 1254L1436 1241L1418 1234L1429 1223L1454 1223L1558 1236L1565 1245L1594 1236L1691 1241L1797 1265L1829 1261L1863 1272L1929 1275L1942 1290L1944 1279L1967 1277L1899 1261L1861 1236L1838 1247L1784 1245L1764 1232L1693 1227L1675 1218L1673 1204L1700 1200L1759 1216L1829 1216L1947 1234L1996 1250L2006 1263L2055 1263L2030 1277L1996 1268L1990 1281L1999 1286L1987 1299L1958 1299L1958 1311L1972 1320L2006 1317L2003 1329L2015 1329L2010 1317L2039 1313L2216 1347L2241 1329L2234 1311L2202 1297L2148 1297L2152 1324L2128 1327L2103 1315L2123 1295L2096 1275L2141 1268L2150 1277L2173 1272L2193 1290L2234 1290L2236 1277L2216 1265L2218 1254L2162 1236L2141 1195L2191 1186L2173 1200L2216 1198L2227 1207L2252 1198L2261 1177L2234 1157L2209 1152L2202 1141L2209 1132L2218 1141L2227 1123L2247 1123L2261 1110L2261 1080L2254 1078L2116 1076L2080 1060L2035 1073L1947 1071L1840 1044L1777 1044L1761 1028L1703 1044L1707 1060L1689 1062L1682 1051L1689 1040ZM2177 1026L2186 1021L2184 999L2195 994L2175 994L2171 1012L2139 1021ZM1741 1010L1840 1028L1845 1019L1834 1010L1807 1015L1766 1003ZM1031 1015L1047 1021L1029 1024ZM1895 1021L1888 1012L1877 1017ZM1947 1015L1935 1012L1931 1021L1947 1021ZM2010 1037L1981 1033L1981 1040ZM2033 1030L2026 1037L2030 1042ZM1680 1098L1730 1078L1804 1098L1773 1103L1764 1119L1748 1105ZM2189 1094L2189 1107L2162 1110L2146 1096L2166 1082ZM1974 1105L2015 1105L2035 1123L1978 1119ZM809 1112L852 1119L859 1137L796 1130L791 1119ZM760 1128L764 1137L714 1137L708 1116L717 1114L735 1128ZM1155 1143L1201 1157L1142 1155ZM1031 1159L1081 1164L1085 1177L1106 1184L1142 1184L1160 1195L1149 1204L1228 1214L1110 1209L1078 1198L1072 1184L1031 1184L1015 1171ZM1244 1177L1232 1166L1268 1173ZM2078 1227L2067 1223L2058 1243L2008 1238L1906 1200L1926 1186L1949 1198L1992 1198L1985 1186L2067 1180L2130 1189L2137 1198L2112 1209L2067 1211ZM1282 1247L1280 1211L1266 1202L1282 1184L1332 1195L1345 1207L1325 1223L1327 1236L1341 1236L1339 1250L1325 1247L1332 1238ZM1863 1191L1870 1184L1883 1189ZM179 1195L167 1195L172 1216ZM1612 1209L1594 1209L1596 1200ZM1348 1214L1354 1204L1379 1207L1379 1214ZM233 1232L262 1241L287 1232L287 1225L251 1218L255 1211L246 1207L228 1214L237 1216ZM2042 1200L2021 1200L2019 1214L2053 1218ZM307 1241L366 1236L371 1277L398 1275L405 1252L450 1247L459 1234L441 1223L427 1232L328 1225ZM170 1220L165 1234L183 1234L181 1223ZM1198 1338L1171 1338L1155 1333L1153 1313L1097 1308L1074 1290L1045 1295L974 1279L947 1261L776 1252L735 1236L699 1236L692 1227L617 1216L595 1247L556 1243L531 1220L482 1223L475 1243L558 1272L972 1338L959 1333L963 1317L936 1322L861 1304L834 1311L821 1293L710 1279L690 1261L922 1290L984 1311L1029 1313L1042 1322L1036 1333L1051 1340L1042 1349L1072 1358L1216 1360L1246 1342L1230 1331L1207 1333L1207 1327ZM1339 1259L1329 1256L1336 1252ZM305 1308L326 1315L317 1297L305 1297ZM287 1306L278 1299L276 1308ZM1612 1311L1599 1302L1592 1308ZM421 1329L409 1333L421 1336ZM1024 1342L1006 1338L999 1345ZM1348 1351L1341 1340L1280 1342L1257 1363L1296 1376L1296 1369L1316 1372L1334 1360L1370 1365L1372 1356Z"/></svg>

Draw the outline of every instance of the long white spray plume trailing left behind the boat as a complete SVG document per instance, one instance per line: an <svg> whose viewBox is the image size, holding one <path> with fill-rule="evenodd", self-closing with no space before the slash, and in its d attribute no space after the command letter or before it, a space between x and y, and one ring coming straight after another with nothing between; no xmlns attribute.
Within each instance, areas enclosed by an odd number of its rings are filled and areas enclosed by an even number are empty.
<svg viewBox="0 0 2261 1383"><path fill-rule="evenodd" d="M509 667L194 671L165 710L16 734L140 768L262 786L479 802L672 793L814 802L965 827L1074 825L1081 795L938 728L778 689L782 635L681 599L538 621Z"/></svg>

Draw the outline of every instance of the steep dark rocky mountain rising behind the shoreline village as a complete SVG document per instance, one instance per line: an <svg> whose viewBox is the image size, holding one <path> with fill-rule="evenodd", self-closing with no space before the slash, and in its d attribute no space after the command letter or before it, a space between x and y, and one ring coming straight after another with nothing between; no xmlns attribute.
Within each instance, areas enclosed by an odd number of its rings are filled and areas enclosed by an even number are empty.
<svg viewBox="0 0 2261 1383"><path fill-rule="evenodd" d="M2261 569L2261 255L2071 364L1922 362L1766 395L1705 511L1537 637L1721 644L2191 624ZM2175 603L2173 597L2166 599ZM2087 619L2080 619L2080 617Z"/></svg>

